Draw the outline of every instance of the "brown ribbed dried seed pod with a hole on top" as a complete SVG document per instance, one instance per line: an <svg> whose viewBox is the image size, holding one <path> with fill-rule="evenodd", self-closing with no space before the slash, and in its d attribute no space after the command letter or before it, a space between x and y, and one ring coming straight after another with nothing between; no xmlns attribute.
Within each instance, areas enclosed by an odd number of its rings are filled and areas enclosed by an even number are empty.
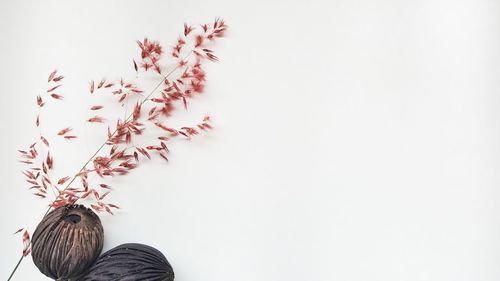
<svg viewBox="0 0 500 281"><path fill-rule="evenodd" d="M65 205L48 213L31 240L33 262L52 279L81 275L102 251L99 217L83 205Z"/></svg>

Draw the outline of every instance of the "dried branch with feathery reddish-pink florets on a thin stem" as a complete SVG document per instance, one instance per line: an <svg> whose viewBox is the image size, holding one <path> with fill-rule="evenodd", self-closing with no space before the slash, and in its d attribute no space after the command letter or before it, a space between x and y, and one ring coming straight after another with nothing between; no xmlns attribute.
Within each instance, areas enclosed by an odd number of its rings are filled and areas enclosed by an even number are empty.
<svg viewBox="0 0 500 281"><path fill-rule="evenodd" d="M63 176L58 180L51 178L54 160L50 154L49 140L42 135L40 110L45 105L48 96L56 100L62 100L63 96L55 93L62 86L63 75L58 75L54 70L50 73L47 82L48 90L37 96L39 113L36 118L36 126L39 128L40 142L45 146L43 152L39 152L39 141L31 144L25 150L19 150L20 162L27 165L23 170L29 189L34 191L34 195L46 198L49 193L54 195L54 199L49 203L49 208L57 208L66 204L74 204L79 200L88 202L92 209L97 212L107 212L113 214L112 209L119 209L116 204L107 203L107 199L112 189L105 183L98 183L95 186L90 184L89 177L109 178L119 175L126 175L131 170L138 167L142 161L140 155L151 159L154 154L168 161L170 150L167 142L172 138L182 136L191 139L201 131L212 129L210 118L206 116L203 121L195 126L184 126L173 129L166 124L166 119L170 117L180 103L184 109L188 108L188 100L196 94L201 94L205 88L206 74L203 70L203 63L206 60L217 61L210 46L220 37L223 37L227 26L221 19L216 19L213 24L203 24L201 28L184 25L184 32L176 41L172 48L170 58L176 60L177 64L168 72L165 72L164 48L158 42L144 38L137 41L140 49L140 58L136 62L133 59L134 70L137 74L141 71L153 71L160 75L158 84L143 95L144 91L135 83L127 82L120 78L116 81L101 79L98 83L90 81L89 92L94 94L109 94L118 96L117 104L125 107L129 101L134 101L134 108L130 114L125 114L123 118L107 120L99 115L90 116L86 119L89 123L102 123L107 125L105 141L83 164L81 169L73 176ZM101 111L102 105L94 105L91 111ZM149 123L153 126L147 126ZM137 145L137 138L143 135L145 130L156 128L157 144ZM65 139L74 139L75 135L70 127L66 127L57 132L58 136ZM107 150L107 151L106 151ZM79 183L79 184L77 184ZM22 231L21 229L20 231ZM29 254L29 234L23 234L23 257ZM18 265L19 265L18 263ZM12 275L16 271L12 272ZM11 275L11 277L12 277ZM9 277L10 280L10 277Z"/></svg>

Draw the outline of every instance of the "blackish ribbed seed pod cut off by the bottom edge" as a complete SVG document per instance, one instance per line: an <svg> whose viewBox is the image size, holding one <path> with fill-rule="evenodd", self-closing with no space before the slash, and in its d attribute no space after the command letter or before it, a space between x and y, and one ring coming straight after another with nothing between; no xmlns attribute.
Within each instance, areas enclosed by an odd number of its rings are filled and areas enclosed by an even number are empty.
<svg viewBox="0 0 500 281"><path fill-rule="evenodd" d="M165 256L153 247L130 243L102 254L79 281L172 281L174 271Z"/></svg>

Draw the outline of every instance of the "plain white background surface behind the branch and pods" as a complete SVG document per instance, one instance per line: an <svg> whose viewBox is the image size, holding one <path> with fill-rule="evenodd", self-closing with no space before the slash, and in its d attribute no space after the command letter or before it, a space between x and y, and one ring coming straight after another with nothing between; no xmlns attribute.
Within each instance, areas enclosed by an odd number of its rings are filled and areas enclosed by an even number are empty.
<svg viewBox="0 0 500 281"><path fill-rule="evenodd" d="M178 281L500 280L500 2L2 1L0 275L46 202L17 149L57 68L56 171L102 141L88 81L133 78L136 39L223 17L203 97L216 130L113 180L105 249L160 249ZM49 133L47 133L49 134ZM45 280L26 259L13 280Z"/></svg>

